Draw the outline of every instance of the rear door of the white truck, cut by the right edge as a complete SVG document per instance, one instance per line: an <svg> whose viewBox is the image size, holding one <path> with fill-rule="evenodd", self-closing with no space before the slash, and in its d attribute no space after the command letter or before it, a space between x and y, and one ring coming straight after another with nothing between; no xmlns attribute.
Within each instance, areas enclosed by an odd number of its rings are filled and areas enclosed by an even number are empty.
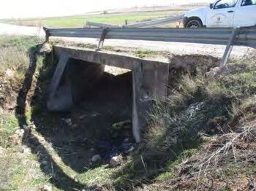
<svg viewBox="0 0 256 191"><path fill-rule="evenodd" d="M256 0L242 0L235 12L234 26L256 26Z"/></svg>

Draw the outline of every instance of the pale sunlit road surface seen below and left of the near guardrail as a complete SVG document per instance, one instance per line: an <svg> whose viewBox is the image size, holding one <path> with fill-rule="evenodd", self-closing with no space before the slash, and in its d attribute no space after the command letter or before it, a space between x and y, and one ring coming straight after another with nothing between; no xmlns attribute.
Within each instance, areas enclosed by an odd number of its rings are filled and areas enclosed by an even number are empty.
<svg viewBox="0 0 256 191"><path fill-rule="evenodd" d="M45 32L39 27L14 26L0 23L0 34L7 35L29 35L44 37ZM98 39L61 38L66 41L97 44ZM141 48L147 50L167 51L176 55L200 54L213 55L221 58L225 51L225 46L211 44L189 44L177 42L146 42L134 40L105 40L105 45L115 47ZM242 58L252 52L249 47L234 47L231 58Z"/></svg>

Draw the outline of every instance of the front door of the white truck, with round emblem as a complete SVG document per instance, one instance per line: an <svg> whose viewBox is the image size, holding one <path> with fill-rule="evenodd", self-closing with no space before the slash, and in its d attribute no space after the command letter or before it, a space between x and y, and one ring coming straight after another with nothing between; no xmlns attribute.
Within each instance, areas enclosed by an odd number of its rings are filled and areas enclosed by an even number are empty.
<svg viewBox="0 0 256 191"><path fill-rule="evenodd" d="M240 0L239 0L240 1ZM206 16L207 27L233 27L234 13L238 0L219 0L208 11Z"/></svg>

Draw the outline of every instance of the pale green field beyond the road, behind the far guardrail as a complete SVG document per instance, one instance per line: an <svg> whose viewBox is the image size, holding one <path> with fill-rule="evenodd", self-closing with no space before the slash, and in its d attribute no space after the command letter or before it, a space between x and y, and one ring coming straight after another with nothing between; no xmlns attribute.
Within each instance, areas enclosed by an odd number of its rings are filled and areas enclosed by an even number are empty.
<svg viewBox="0 0 256 191"><path fill-rule="evenodd" d="M156 12L127 12L127 13L111 13L97 15L75 15L68 17L46 17L31 19L10 19L0 20L4 23L18 24L22 26L48 26L48 27L83 27L87 20L100 23L113 23L124 25L125 20L128 23L136 23L145 20L154 20L171 15L179 15L184 10L168 10Z"/></svg>

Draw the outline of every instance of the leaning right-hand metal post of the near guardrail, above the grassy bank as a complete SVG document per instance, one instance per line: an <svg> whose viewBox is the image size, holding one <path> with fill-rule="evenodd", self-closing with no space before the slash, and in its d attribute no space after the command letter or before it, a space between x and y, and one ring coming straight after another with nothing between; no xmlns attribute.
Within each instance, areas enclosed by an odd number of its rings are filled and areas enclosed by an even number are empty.
<svg viewBox="0 0 256 191"><path fill-rule="evenodd" d="M232 34L230 36L230 39L227 43L227 47L225 49L224 55L222 57L222 62L220 63L220 68L224 68L227 65L228 58L230 58L230 54L233 49L234 40L236 39L236 35L238 34L238 28L234 28L232 31Z"/></svg>

